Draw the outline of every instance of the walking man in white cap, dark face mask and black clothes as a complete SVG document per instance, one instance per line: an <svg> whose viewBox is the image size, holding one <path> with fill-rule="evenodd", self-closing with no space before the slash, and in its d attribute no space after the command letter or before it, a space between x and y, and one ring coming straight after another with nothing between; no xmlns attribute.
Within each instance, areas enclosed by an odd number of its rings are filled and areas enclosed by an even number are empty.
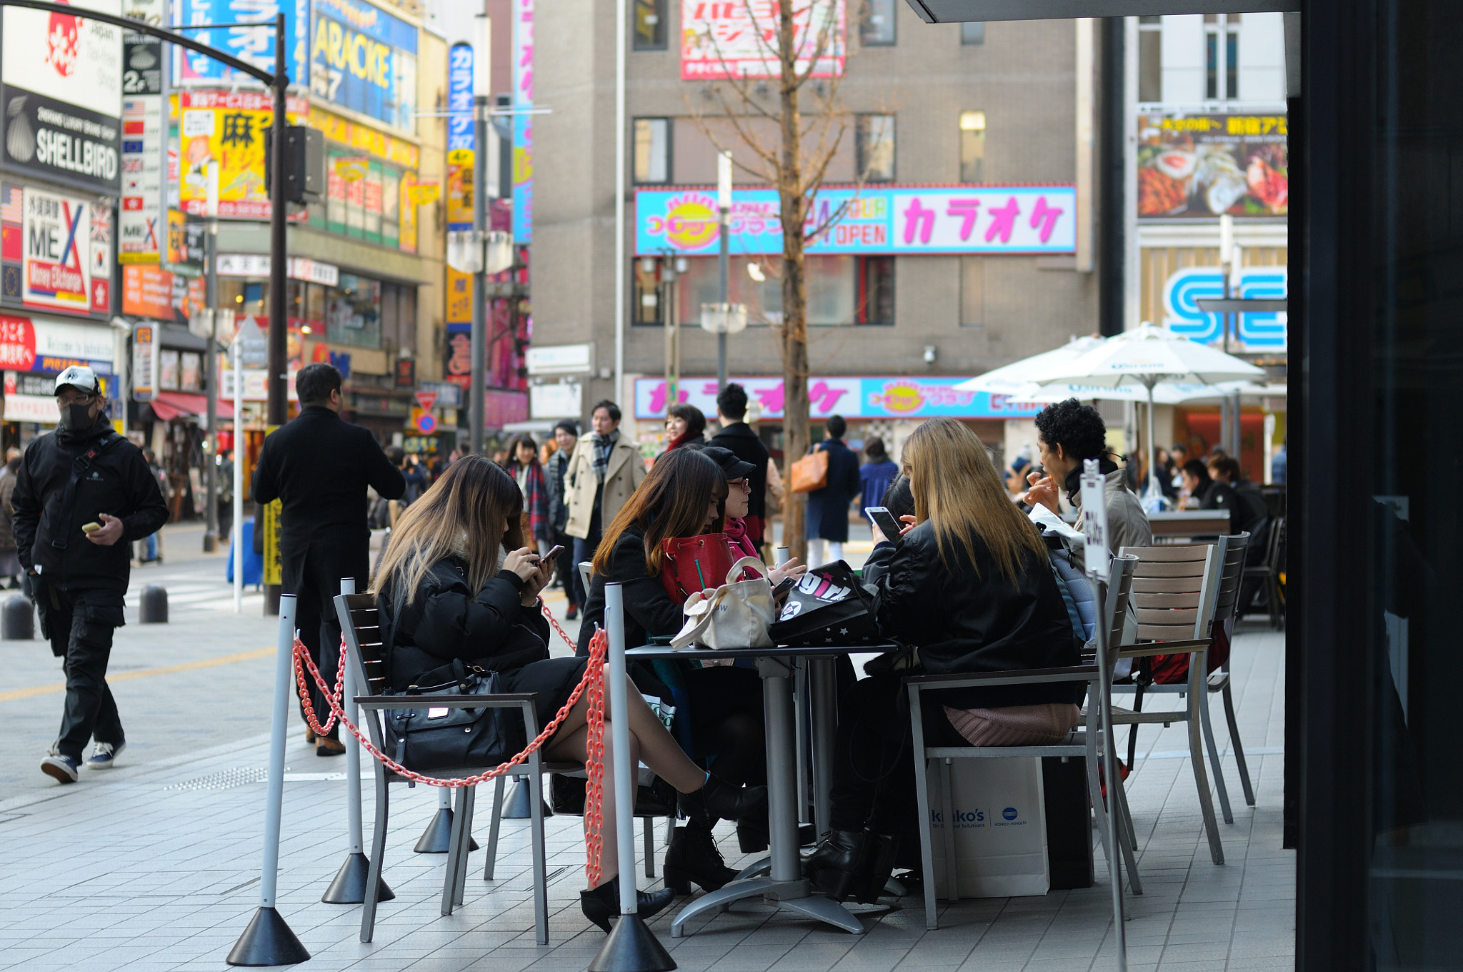
<svg viewBox="0 0 1463 972"><path fill-rule="evenodd" d="M16 470L15 540L31 575L41 634L66 659L61 732L41 771L75 783L86 741L91 769L108 769L126 747L117 703L107 688L111 634L132 574L132 542L168 518L142 449L102 414L107 400L85 366L56 376L60 425L37 439Z"/></svg>

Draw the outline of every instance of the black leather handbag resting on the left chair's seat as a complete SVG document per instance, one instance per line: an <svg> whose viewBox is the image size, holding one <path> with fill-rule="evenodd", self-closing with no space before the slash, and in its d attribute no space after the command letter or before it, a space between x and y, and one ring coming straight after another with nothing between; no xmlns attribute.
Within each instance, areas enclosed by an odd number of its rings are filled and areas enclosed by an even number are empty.
<svg viewBox="0 0 1463 972"><path fill-rule="evenodd" d="M494 695L502 676L454 660L455 681L389 695ZM443 675L442 669L437 669ZM386 752L408 770L426 773L458 767L492 767L527 744L522 711L511 709L388 709Z"/></svg>

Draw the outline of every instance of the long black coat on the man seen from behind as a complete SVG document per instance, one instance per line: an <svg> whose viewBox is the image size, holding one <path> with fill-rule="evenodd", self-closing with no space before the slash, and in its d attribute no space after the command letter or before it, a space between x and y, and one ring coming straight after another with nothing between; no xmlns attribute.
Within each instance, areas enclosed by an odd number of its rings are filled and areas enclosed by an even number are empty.
<svg viewBox="0 0 1463 972"><path fill-rule="evenodd" d="M259 452L255 502L281 501L279 556L287 594L296 593L306 561L332 577L370 574L366 487L401 499L407 480L391 464L370 429L309 405L272 432Z"/></svg>

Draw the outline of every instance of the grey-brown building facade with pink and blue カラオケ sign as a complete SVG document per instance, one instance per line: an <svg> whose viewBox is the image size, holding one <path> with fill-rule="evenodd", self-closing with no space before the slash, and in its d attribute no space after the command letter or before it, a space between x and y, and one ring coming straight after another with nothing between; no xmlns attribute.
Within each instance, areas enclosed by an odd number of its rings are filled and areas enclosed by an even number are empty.
<svg viewBox="0 0 1463 972"><path fill-rule="evenodd" d="M882 0L827 9L843 18L832 45L841 76L830 66L803 104L811 117L831 98L838 113L832 133L843 135L819 206L847 208L808 256L813 414L835 411L885 435L898 422L958 414L1001 442L1004 422L1030 410L951 385L1097 328L1091 35L1072 22L916 29L904 3ZM593 344L590 373L573 379L576 413L612 397L658 425L667 324L680 325L682 395L714 413L714 381L708 389L704 378L715 375L715 338L698 325L718 293L717 152L756 167L717 92L742 116L775 111L777 95L772 79L749 82L752 108L714 81L734 41L695 38L734 38L737 25L698 19L705 13L680 0L633 4L628 177L616 186L613 9L569 0L534 10L534 101L550 113L533 133L533 338ZM748 306L749 326L730 337L727 369L765 392L775 446L781 242L764 183L736 171L729 296ZM628 199L622 265L616 192ZM626 300L620 386L616 275ZM569 400L554 397L556 408Z"/></svg>

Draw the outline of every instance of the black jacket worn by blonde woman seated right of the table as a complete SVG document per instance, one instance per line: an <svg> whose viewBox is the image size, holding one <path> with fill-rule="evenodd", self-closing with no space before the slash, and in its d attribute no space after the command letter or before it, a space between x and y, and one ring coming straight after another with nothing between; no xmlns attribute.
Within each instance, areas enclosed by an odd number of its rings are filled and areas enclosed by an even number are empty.
<svg viewBox="0 0 1463 972"><path fill-rule="evenodd" d="M928 520L897 546L876 546L863 565L863 581L876 587L881 634L917 646L930 675L1078 665L1072 622L1050 565L1028 550L1012 583L980 537L974 537L974 549L971 562L964 546L954 545L954 564L947 568ZM1084 691L1081 682L1059 682L960 688L942 695L945 704L960 709L996 709L1080 703Z"/></svg>

